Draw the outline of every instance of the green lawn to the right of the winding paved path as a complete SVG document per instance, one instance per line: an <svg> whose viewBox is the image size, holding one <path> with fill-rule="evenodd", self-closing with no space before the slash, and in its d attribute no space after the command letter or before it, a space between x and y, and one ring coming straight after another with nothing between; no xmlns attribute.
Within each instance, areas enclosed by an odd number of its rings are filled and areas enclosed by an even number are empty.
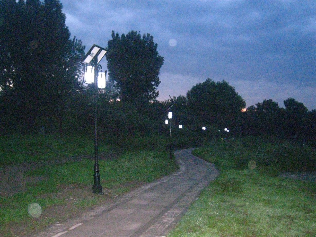
<svg viewBox="0 0 316 237"><path fill-rule="evenodd" d="M279 157L271 155L295 147L295 143L246 138L216 141L194 150L195 155L215 163L220 175L168 237L316 236L315 183L277 177L284 168L305 170L306 166L290 161L290 166L280 165L275 161ZM303 154L313 154L303 149ZM285 154L292 157L298 152ZM245 167L250 160L257 161L255 169Z"/></svg>

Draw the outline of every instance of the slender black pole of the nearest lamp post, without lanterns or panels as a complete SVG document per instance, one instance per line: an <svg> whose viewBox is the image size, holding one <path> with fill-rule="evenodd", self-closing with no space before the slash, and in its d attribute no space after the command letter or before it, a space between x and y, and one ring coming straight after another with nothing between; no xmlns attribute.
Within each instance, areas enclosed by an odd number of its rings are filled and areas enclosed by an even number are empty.
<svg viewBox="0 0 316 237"><path fill-rule="evenodd" d="M98 101L98 73L99 67L97 58L92 59L92 64L94 66L94 175L93 175L93 187L92 192L97 194L103 194L101 179L100 179L100 169L99 169L99 153L98 153L98 135L97 135L97 101Z"/></svg>

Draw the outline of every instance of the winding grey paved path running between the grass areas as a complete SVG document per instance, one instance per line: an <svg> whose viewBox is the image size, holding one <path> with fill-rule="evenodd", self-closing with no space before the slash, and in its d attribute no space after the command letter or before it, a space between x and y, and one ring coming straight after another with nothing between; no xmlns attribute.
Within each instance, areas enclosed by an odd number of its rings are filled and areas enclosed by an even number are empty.
<svg viewBox="0 0 316 237"><path fill-rule="evenodd" d="M99 207L76 220L52 226L37 236L164 236L214 180L214 165L191 154L175 152L180 169L120 197L114 204Z"/></svg>

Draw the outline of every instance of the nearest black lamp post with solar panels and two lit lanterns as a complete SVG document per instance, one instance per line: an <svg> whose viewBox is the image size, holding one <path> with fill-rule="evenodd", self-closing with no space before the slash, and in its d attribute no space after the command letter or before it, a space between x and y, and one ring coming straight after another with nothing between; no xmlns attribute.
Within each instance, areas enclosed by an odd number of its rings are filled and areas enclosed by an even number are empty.
<svg viewBox="0 0 316 237"><path fill-rule="evenodd" d="M100 170L99 170L99 154L98 154L98 137L97 137L97 100L98 100L98 87L105 88L106 85L106 72L102 72L102 67L99 64L101 59L104 57L106 50L100 46L93 45L86 54L83 63L85 63L84 70L84 82L95 84L94 94L94 175L93 175L93 186L92 192L97 194L103 194ZM88 65L90 64L90 65Z"/></svg>

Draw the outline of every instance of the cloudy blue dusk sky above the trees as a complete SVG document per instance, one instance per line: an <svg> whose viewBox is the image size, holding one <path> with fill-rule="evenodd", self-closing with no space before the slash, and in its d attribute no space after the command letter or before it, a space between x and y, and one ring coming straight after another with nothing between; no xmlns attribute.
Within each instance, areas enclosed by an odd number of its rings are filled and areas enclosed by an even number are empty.
<svg viewBox="0 0 316 237"><path fill-rule="evenodd" d="M265 99L284 107L292 97L316 108L315 1L60 1L86 52L106 47L112 30L154 37L165 59L158 100L211 78L227 81L246 107Z"/></svg>

